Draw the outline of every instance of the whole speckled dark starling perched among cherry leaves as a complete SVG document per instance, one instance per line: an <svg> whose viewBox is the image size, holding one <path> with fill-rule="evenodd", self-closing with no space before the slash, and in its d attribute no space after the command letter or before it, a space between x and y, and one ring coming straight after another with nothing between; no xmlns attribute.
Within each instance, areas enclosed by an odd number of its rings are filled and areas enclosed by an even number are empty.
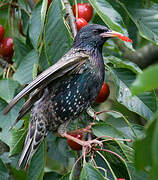
<svg viewBox="0 0 158 180"><path fill-rule="evenodd" d="M102 48L110 37L124 37L106 25L89 24L76 35L72 48L54 65L39 74L4 110L7 114L25 95L32 95L19 111L16 122L29 111L30 121L20 168L27 167L49 132L85 145L66 131L68 124L90 107L104 82Z"/></svg>

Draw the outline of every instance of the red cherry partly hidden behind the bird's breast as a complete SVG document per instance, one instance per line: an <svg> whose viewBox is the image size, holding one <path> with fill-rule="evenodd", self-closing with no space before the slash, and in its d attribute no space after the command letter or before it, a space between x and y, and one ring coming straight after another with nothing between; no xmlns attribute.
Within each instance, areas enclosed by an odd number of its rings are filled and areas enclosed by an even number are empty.
<svg viewBox="0 0 158 180"><path fill-rule="evenodd" d="M104 82L98 96L96 97L95 102L96 103L104 102L108 98L109 94L110 94L109 86L106 82Z"/></svg>

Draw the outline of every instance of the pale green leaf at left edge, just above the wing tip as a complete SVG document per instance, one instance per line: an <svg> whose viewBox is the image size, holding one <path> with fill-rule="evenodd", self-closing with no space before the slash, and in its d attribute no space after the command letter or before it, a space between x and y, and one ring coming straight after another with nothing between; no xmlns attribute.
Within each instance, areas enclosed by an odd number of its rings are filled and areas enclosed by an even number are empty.
<svg viewBox="0 0 158 180"><path fill-rule="evenodd" d="M18 82L11 79L0 80L0 97L9 103L13 99L18 85Z"/></svg>

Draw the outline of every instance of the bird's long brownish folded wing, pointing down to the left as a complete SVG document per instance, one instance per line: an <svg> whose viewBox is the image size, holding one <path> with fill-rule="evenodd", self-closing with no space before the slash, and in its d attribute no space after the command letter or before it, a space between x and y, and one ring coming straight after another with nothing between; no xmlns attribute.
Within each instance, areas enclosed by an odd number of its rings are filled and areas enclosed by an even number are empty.
<svg viewBox="0 0 158 180"><path fill-rule="evenodd" d="M71 49L56 64L52 65L39 76L37 76L28 86L26 86L5 108L3 114L7 114L11 108L25 95L31 93L38 87L45 88L50 82L62 77L64 74L73 71L76 67L82 65L89 55L83 51Z"/></svg>

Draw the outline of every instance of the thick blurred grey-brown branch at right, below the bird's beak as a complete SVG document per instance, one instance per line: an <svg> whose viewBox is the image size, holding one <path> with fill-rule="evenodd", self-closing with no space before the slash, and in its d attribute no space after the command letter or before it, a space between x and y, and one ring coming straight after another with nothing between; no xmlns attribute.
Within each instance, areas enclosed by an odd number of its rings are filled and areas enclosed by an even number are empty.
<svg viewBox="0 0 158 180"><path fill-rule="evenodd" d="M118 45L119 50L123 53L123 56L137 64L142 69L158 60L158 47L154 46L152 43L137 51L132 51L119 39L115 39L114 41Z"/></svg>

